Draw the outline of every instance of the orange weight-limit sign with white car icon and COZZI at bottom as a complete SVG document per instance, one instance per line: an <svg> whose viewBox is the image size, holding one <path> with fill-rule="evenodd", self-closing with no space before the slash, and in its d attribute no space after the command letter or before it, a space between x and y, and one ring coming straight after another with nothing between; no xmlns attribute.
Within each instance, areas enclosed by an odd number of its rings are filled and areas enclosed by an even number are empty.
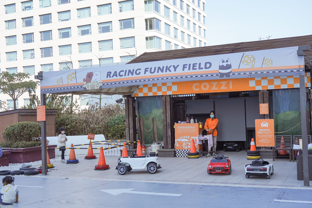
<svg viewBox="0 0 312 208"><path fill-rule="evenodd" d="M274 119L256 119L256 146L274 147Z"/></svg>

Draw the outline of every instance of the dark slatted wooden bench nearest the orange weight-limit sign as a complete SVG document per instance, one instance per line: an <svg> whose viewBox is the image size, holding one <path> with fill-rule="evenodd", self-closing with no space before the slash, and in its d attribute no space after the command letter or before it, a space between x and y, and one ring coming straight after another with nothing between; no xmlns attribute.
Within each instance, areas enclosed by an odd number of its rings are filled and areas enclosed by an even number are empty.
<svg viewBox="0 0 312 208"><path fill-rule="evenodd" d="M289 162L291 162L293 148L293 136L292 135L278 135L275 136L275 147L273 147L273 161L277 157L289 157ZM289 151L289 156L287 155L278 155L277 151L286 150Z"/></svg>

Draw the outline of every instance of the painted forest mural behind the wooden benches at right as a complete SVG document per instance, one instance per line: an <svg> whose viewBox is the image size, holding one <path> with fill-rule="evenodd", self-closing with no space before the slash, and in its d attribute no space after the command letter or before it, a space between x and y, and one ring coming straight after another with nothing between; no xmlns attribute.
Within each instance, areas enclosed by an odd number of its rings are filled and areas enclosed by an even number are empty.
<svg viewBox="0 0 312 208"><path fill-rule="evenodd" d="M310 103L306 102L307 129L310 134ZM301 135L299 88L273 89L275 135Z"/></svg>

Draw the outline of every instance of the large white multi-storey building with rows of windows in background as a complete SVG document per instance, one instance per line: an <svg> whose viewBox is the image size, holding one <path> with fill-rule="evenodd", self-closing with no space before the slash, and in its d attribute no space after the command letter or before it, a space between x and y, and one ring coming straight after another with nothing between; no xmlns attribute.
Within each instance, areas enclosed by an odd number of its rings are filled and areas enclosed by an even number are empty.
<svg viewBox="0 0 312 208"><path fill-rule="evenodd" d="M144 52L206 46L205 3L0 0L0 70L27 72L34 79L39 71L126 63ZM102 105L119 97L102 100ZM18 107L28 98L23 94ZM90 95L81 98L81 105L99 102ZM7 94L0 94L0 100L13 109Z"/></svg>

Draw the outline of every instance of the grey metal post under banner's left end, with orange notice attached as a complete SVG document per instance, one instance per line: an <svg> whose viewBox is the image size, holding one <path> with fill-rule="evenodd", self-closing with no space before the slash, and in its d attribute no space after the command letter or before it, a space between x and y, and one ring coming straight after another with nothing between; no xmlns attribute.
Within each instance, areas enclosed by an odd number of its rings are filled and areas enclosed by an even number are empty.
<svg viewBox="0 0 312 208"><path fill-rule="evenodd" d="M46 94L40 96L41 105L46 105ZM42 175L47 174L46 167L46 121L41 121L41 161L42 161Z"/></svg>

